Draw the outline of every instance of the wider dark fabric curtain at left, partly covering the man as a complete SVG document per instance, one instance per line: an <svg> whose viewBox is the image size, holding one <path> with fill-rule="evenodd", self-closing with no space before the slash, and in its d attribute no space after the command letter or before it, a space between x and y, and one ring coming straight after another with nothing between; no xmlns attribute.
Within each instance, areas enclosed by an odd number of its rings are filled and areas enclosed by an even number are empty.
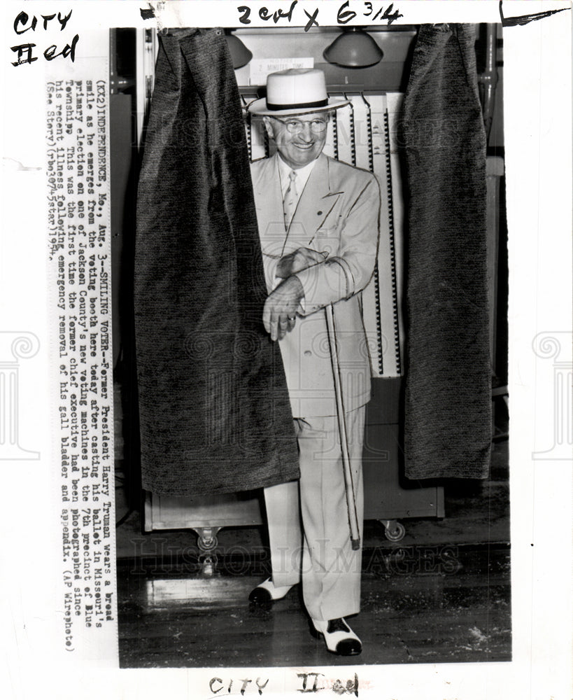
<svg viewBox="0 0 573 700"><path fill-rule="evenodd" d="M144 149L134 264L143 488L197 496L297 478L221 29L160 37Z"/></svg>

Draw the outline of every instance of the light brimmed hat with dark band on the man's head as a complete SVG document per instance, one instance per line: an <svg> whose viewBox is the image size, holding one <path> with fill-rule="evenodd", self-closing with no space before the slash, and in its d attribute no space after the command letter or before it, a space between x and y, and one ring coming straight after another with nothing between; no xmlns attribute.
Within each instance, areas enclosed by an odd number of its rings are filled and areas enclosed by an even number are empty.
<svg viewBox="0 0 573 700"><path fill-rule="evenodd" d="M349 103L349 99L328 97L323 71L317 68L289 68L269 73L267 97L255 99L247 110L255 116L288 116L325 112Z"/></svg>

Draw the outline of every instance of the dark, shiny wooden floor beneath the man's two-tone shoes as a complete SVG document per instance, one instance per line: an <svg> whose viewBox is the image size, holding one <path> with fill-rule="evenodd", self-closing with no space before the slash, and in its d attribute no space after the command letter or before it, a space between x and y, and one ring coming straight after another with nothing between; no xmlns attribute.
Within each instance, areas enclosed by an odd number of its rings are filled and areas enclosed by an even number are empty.
<svg viewBox="0 0 573 700"><path fill-rule="evenodd" d="M364 565L353 665L511 659L509 547L371 549ZM311 637L297 588L267 608L248 603L261 576L245 566L120 565L121 666L348 664Z"/></svg>

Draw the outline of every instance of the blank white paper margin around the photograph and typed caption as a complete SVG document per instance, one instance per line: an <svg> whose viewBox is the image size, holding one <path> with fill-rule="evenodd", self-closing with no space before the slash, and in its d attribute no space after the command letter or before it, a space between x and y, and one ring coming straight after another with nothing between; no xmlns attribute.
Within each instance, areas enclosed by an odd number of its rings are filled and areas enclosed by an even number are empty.
<svg viewBox="0 0 573 700"><path fill-rule="evenodd" d="M102 55L98 41L112 27L237 26L240 6L253 8L250 26L263 6L291 2L220 0L137 2L85 0L6 2L3 17L3 216L0 239L2 332L27 332L37 349L25 360L20 381L20 444L38 458L1 461L4 495L2 611L8 696L177 698L213 696L214 675L264 675L267 697L297 697L296 671L288 668L138 669L117 666L117 631L101 648L88 645L83 659L66 654L59 608L61 533L55 525L53 474L59 473L53 435L50 328L45 246L45 80L48 64L38 59L13 66L14 20L66 15L80 34L78 57ZM304 0L290 26L304 26L304 10L319 8L321 25L336 25L342 2ZM384 3L378 3L383 5ZM389 3L386 3L387 5ZM498 22L497 1L402 0L397 22ZM351 2L349 8L364 6ZM147 10L147 12L141 12ZM153 10L153 17L144 19ZM553 10L559 10L551 14ZM571 386L556 405L556 367L567 372L572 339L572 125L571 4L507 0L504 18L547 13L544 18L504 27L504 130L509 227L509 401L511 414L511 552L513 661L479 664L413 664L357 668L360 696L396 700L541 700L571 697L572 659L572 470L571 460L551 454L559 410L570 411ZM244 13L243 13L244 14ZM143 15L143 16L142 16ZM271 20L272 21L272 20ZM72 22L72 20L70 20ZM297 24L298 22L298 24ZM34 31L41 51L57 41ZM71 25L70 25L71 26ZM25 41L31 41L24 34ZM64 36L64 33L62 33ZM22 39L21 41L24 41ZM66 39L67 41L67 39ZM44 46L45 45L45 46ZM92 52L90 54L90 51ZM103 52L107 52L107 45ZM18 169L21 164L24 170ZM39 168L40 170L35 170ZM543 336L543 337L542 337ZM552 348L560 346L560 356ZM0 358L2 360L3 358ZM24 360L22 360L23 366ZM559 367L558 367L559 365ZM570 370L569 370L570 372ZM567 376L567 374L566 374ZM570 374L569 374L570 376ZM559 414L561 416L561 414ZM570 416L571 414L567 414ZM565 423L567 443L567 423ZM570 426L568 428L570 430ZM569 433L570 434L570 433ZM331 667L312 668L332 675ZM337 666L350 678L353 666ZM330 691L323 691L323 694Z"/></svg>

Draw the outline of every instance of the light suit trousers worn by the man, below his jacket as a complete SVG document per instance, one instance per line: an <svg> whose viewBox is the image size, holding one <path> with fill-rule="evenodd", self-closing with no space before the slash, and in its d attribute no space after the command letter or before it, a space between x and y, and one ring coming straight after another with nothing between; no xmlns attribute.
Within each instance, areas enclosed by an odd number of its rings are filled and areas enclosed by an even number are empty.
<svg viewBox="0 0 573 700"><path fill-rule="evenodd" d="M346 413L348 452L362 547L365 406ZM351 547L337 416L295 419L300 479L264 489L272 579L302 580L304 605L318 620L360 611L362 549Z"/></svg>

